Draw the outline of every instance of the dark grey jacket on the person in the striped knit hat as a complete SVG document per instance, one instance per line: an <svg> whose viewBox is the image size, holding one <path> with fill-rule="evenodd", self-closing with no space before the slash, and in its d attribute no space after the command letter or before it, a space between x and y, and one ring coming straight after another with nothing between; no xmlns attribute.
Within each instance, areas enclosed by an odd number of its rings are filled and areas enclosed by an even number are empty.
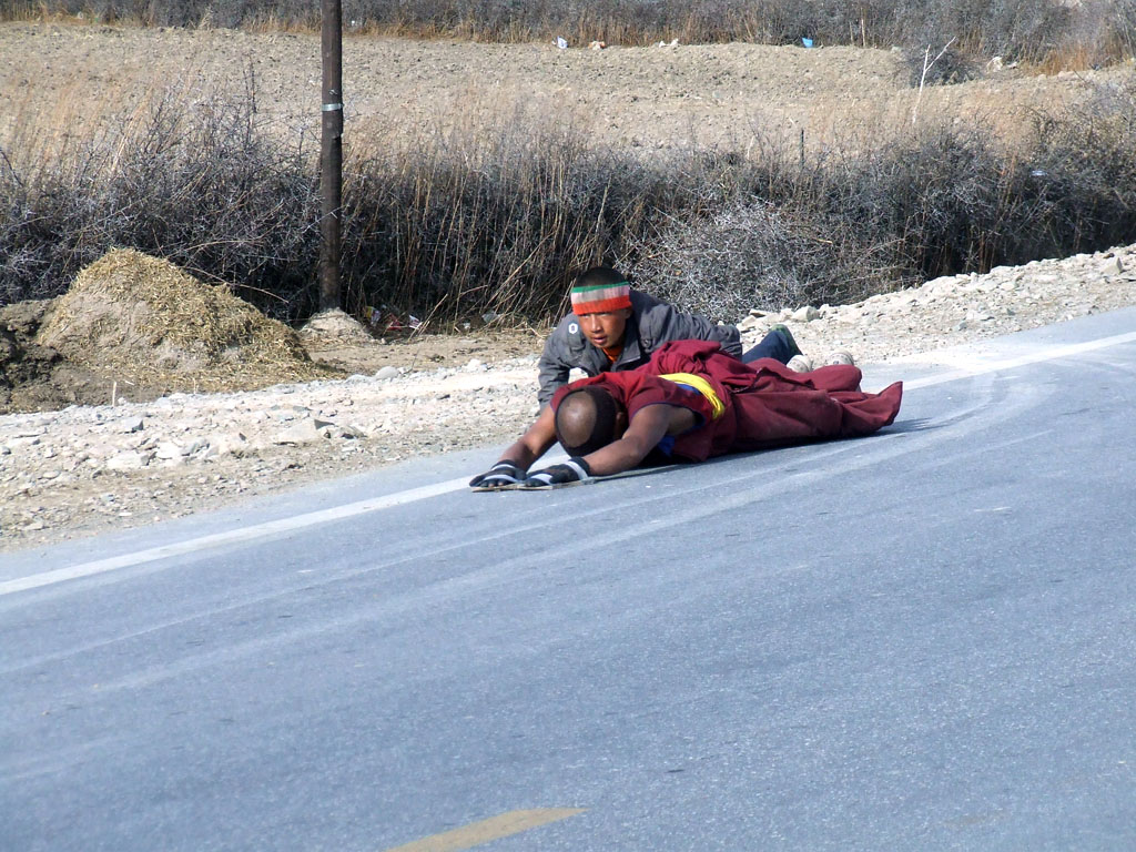
<svg viewBox="0 0 1136 852"><path fill-rule="evenodd" d="M557 389L568 384L568 371L573 367L578 367L588 376L608 370L633 370L646 364L654 350L673 340L713 340L721 343L729 354L742 357L742 340L735 326L715 325L704 317L682 314L673 304L632 290L632 316L627 320L624 351L615 364L608 361L603 351L584 336L575 314L560 320L544 342L544 352L537 362L541 404L546 404Z"/></svg>

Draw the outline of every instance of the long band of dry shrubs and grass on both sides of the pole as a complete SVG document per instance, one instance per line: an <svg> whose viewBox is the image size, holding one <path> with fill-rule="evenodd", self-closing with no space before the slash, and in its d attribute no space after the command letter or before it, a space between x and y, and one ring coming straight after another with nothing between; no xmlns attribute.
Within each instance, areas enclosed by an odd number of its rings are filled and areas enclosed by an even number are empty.
<svg viewBox="0 0 1136 852"><path fill-rule="evenodd" d="M807 161L774 147L637 154L525 110L384 140L345 168L344 308L435 325L490 310L543 319L582 267L607 262L736 318L1108 248L1136 232L1134 90L1039 116L1035 141L1012 151L982 128L920 125ZM226 282L269 316L310 316L312 145L256 115L250 92L162 97L41 159L6 151L0 303L58 295L127 247Z"/></svg>

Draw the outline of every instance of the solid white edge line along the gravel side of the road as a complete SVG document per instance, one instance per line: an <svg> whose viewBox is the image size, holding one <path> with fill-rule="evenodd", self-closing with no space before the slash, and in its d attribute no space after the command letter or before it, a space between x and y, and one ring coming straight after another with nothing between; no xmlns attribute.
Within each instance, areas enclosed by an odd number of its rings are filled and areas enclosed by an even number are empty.
<svg viewBox="0 0 1136 852"><path fill-rule="evenodd" d="M1136 332L1129 332L1127 334L1116 334L1111 337L1101 337L1100 340L1088 341L1086 343L1072 343L1066 346L1045 349L1031 354L1018 356L1017 358L1005 358L1002 360L985 362L976 361L975 366L970 368L950 370L949 373L943 373L937 376L928 376L926 378L917 378L910 382L904 382L903 389L904 391L913 391L920 387L932 387L934 385L946 384L947 382L957 382L960 378L971 378L987 373L1013 369L1014 367L1022 367L1028 364L1054 361L1061 358L1080 354L1083 352L1093 352L1099 349L1108 349L1109 346L1131 343L1134 341L1136 341ZM460 479L449 479L434 485L424 485L418 488L400 491L394 494L386 494L371 500L360 500L354 503L337 506L332 509L306 512L303 515L295 515L291 518L281 518L278 520L269 520L264 524L254 524L239 529L231 529L226 533L204 535L199 538L190 538L189 541L166 544L160 548L140 550L135 553L124 553L123 556L99 559L93 562L81 562L80 565L73 565L68 568L59 568L53 571L33 574L27 577L19 577L17 579L0 583L0 595L25 592L31 588L48 586L53 583L62 583L68 579L90 577L95 574L105 574L106 571L114 571L119 568L130 568L131 566L142 565L144 562L153 562L159 559L193 553L194 551L204 550L206 548L217 548L225 544L250 542L269 535L290 533L296 529L317 526L319 524L343 520L344 518L351 518L357 515L365 515L381 509L390 509L393 506L403 506L418 500L428 500L433 496L448 494L453 491L460 491L467 486L467 483L468 479L465 477Z"/></svg>

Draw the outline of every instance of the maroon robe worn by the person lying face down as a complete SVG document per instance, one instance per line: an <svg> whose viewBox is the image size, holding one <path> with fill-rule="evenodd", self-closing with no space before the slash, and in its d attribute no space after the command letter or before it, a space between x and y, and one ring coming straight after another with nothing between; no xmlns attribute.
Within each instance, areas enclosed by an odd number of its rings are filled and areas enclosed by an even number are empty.
<svg viewBox="0 0 1136 852"><path fill-rule="evenodd" d="M710 402L698 391L659 378L691 373L705 378L725 410L712 417ZM683 406L698 412L702 425L675 436L670 454L687 461L712 456L783 446L803 441L869 435L891 424L900 411L903 384L879 393L860 390L859 367L833 365L794 373L771 358L750 364L726 354L717 342L671 341L635 370L601 373L561 387L552 407L569 390L594 384L627 409L628 418L645 406Z"/></svg>

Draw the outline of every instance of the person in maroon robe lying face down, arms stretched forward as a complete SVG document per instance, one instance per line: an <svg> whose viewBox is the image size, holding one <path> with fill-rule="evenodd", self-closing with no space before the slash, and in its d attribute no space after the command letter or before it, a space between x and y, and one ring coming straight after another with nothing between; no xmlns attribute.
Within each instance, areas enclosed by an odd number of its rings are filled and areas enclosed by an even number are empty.
<svg viewBox="0 0 1136 852"><path fill-rule="evenodd" d="M638 369L561 387L498 463L469 484L542 488L619 474L652 456L704 461L868 435L895 419L903 386L864 393L860 379L850 365L795 373L772 359L743 364L715 342L666 343ZM528 473L557 441L571 458Z"/></svg>

